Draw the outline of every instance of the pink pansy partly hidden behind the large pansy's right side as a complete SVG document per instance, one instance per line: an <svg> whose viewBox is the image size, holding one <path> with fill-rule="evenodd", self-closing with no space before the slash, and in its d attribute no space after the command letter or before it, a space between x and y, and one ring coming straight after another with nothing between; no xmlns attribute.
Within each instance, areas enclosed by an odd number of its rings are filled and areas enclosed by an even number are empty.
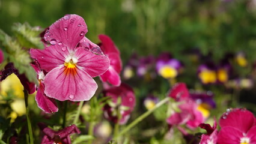
<svg viewBox="0 0 256 144"><path fill-rule="evenodd" d="M108 55L110 66L109 69L100 75L100 79L103 82L109 82L114 86L120 86L121 79L120 79L120 72L122 69L122 61L120 58L120 52L117 49L117 46L113 43L111 38L107 35L99 35L100 41L102 43L99 44L100 49L102 49L105 55Z"/></svg>

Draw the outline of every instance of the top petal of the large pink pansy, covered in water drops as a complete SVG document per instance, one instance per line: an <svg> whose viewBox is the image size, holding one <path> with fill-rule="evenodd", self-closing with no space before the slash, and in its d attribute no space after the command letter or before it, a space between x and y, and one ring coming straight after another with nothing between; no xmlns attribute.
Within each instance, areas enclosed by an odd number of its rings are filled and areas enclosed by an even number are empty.
<svg viewBox="0 0 256 144"><path fill-rule="evenodd" d="M74 50L87 31L87 25L81 16L66 14L49 27L44 40L53 41L53 44L61 42L66 44L69 50Z"/></svg>

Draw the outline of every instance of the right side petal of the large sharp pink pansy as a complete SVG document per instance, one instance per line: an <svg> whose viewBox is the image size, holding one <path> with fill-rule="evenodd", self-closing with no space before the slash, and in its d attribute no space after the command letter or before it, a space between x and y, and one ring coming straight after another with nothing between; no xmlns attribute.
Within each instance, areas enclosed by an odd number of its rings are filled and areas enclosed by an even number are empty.
<svg viewBox="0 0 256 144"><path fill-rule="evenodd" d="M97 55L90 50L78 47L75 56L78 58L77 65L91 77L99 76L109 68L109 58L106 55Z"/></svg>

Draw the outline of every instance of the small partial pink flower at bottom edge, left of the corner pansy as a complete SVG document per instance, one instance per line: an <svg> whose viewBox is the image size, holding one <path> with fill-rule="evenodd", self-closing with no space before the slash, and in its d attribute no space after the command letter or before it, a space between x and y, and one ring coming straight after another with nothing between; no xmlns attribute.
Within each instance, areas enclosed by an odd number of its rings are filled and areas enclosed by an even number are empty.
<svg viewBox="0 0 256 144"><path fill-rule="evenodd" d="M199 127L204 128L207 131L207 134L202 134L200 144L216 144L218 130L216 119L214 119L213 127L209 124L200 124Z"/></svg>

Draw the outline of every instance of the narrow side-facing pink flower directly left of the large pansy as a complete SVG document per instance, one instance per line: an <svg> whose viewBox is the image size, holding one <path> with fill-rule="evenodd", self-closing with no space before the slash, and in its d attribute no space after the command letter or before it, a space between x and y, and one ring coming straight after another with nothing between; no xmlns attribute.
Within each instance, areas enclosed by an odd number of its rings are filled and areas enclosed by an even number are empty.
<svg viewBox="0 0 256 144"><path fill-rule="evenodd" d="M37 72L38 86L37 94L35 95L35 101L37 106L46 113L58 112L58 107L54 98L47 97L44 94L44 73L40 70L38 64L31 64L34 70Z"/></svg>

